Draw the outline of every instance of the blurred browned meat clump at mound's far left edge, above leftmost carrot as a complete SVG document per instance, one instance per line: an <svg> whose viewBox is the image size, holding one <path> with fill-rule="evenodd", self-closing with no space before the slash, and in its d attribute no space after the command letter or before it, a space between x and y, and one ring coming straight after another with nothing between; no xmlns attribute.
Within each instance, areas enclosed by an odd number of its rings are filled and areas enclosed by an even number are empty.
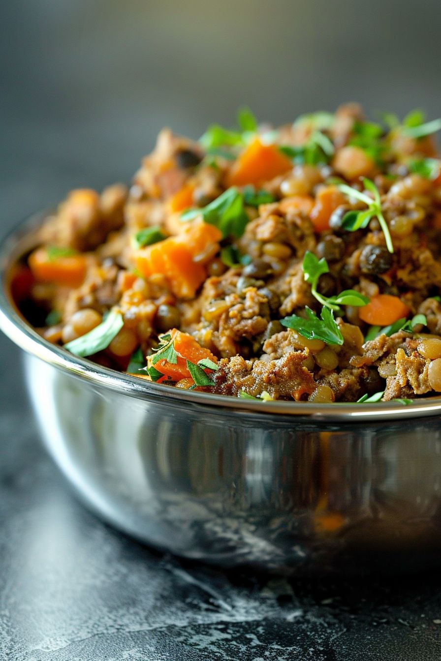
<svg viewBox="0 0 441 661"><path fill-rule="evenodd" d="M40 239L49 245L91 251L122 227L127 188L109 186L99 195L95 190L73 190L58 212L43 225Z"/></svg>

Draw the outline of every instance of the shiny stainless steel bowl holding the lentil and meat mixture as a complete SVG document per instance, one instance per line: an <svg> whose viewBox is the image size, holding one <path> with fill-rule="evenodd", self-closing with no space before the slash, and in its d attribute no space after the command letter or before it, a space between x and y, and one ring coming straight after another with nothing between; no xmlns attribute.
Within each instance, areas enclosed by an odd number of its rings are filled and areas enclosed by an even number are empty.
<svg viewBox="0 0 441 661"><path fill-rule="evenodd" d="M419 568L441 551L441 399L261 403L147 383L43 340L9 294L34 217L0 247L0 327L27 353L44 442L95 512L210 563Z"/></svg>

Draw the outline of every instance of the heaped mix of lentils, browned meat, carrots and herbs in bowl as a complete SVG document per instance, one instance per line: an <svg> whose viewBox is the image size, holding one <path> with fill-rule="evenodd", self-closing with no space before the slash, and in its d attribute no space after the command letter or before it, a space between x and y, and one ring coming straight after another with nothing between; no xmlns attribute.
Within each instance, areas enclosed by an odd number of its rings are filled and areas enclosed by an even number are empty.
<svg viewBox="0 0 441 661"><path fill-rule="evenodd" d="M130 188L69 193L17 267L46 340L248 399L441 392L441 120L357 104L278 129L159 134Z"/></svg>

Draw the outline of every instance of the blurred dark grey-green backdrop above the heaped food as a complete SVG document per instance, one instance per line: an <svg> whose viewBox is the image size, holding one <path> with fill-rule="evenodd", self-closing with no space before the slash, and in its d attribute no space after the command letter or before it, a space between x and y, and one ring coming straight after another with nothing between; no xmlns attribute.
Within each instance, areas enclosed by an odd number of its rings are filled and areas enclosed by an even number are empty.
<svg viewBox="0 0 441 661"><path fill-rule="evenodd" d="M441 112L439 0L14 0L0 25L4 227L243 103L274 122L345 100Z"/></svg>

